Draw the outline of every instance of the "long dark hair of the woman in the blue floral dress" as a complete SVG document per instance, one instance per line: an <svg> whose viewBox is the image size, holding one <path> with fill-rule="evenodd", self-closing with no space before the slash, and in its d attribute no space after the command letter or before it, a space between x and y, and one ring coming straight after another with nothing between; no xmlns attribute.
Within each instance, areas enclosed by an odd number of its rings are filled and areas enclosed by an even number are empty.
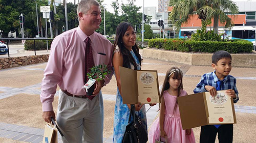
<svg viewBox="0 0 256 143"><path fill-rule="evenodd" d="M116 38L115 38L115 42L114 42L114 48L116 48L116 46L118 46L119 48L119 52L122 54L123 56L123 67L125 68L131 68L131 64L134 65L135 70L137 70L137 64L133 58L133 55L131 54L131 52L125 48L125 46L123 45L123 36L125 34L125 32L128 30L128 28L133 28L131 23L129 22L122 22L120 23L117 28L116 28ZM139 47L137 46L137 44L135 43L135 45L132 47L135 55L137 56L137 58L139 59L140 65L141 65L141 56L139 54Z"/></svg>

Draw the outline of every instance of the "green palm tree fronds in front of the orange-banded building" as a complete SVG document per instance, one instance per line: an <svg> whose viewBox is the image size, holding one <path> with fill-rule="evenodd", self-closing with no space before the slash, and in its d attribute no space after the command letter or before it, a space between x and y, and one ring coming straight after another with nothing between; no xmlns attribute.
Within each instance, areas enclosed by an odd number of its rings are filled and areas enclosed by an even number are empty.
<svg viewBox="0 0 256 143"><path fill-rule="evenodd" d="M239 12L237 5L230 0L173 0L170 5L173 10L169 14L169 20L175 23L177 28L187 22L191 15L197 14L202 21L211 21L214 18L215 33L218 33L219 21L225 24L225 28L232 26L232 19L226 13L234 15Z"/></svg>

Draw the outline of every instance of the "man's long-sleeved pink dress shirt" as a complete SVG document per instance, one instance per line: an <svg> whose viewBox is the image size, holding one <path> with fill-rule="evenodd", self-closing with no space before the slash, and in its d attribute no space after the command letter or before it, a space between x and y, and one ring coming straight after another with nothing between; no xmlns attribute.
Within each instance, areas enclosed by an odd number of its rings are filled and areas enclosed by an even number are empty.
<svg viewBox="0 0 256 143"><path fill-rule="evenodd" d="M53 110L52 102L57 85L60 89L67 90L73 95L86 95L86 90L82 89L82 86L86 75L84 69L87 37L78 26L54 38L41 83L40 99L43 111ZM112 68L112 44L96 32L90 35L89 38L92 41L94 64L104 63L111 70L111 73L104 78L105 84L107 84L114 73ZM99 53L105 53L106 55Z"/></svg>

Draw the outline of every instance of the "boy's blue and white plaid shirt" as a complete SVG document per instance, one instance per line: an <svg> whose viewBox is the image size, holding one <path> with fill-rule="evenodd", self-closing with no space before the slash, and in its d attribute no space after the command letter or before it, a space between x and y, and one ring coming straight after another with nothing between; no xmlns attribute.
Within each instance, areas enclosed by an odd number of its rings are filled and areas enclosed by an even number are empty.
<svg viewBox="0 0 256 143"><path fill-rule="evenodd" d="M194 89L194 93L207 92L206 89L204 88L205 85L210 85L211 87L217 88L218 80L220 79L218 79L217 75L215 74L215 71L204 74L201 77L200 82L197 84L197 87ZM222 81L223 81L223 84L221 86L221 90L229 90L229 89L234 90L234 93L237 94L237 98L236 99L233 98L233 101L234 103L237 103L239 100L238 90L236 87L237 79L231 75L228 75Z"/></svg>

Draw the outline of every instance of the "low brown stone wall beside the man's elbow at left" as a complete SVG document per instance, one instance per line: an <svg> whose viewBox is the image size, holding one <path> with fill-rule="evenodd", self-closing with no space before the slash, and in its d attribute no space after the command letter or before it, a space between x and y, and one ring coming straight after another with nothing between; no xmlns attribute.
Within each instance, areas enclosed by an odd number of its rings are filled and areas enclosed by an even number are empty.
<svg viewBox="0 0 256 143"><path fill-rule="evenodd" d="M0 59L0 69L7 69L12 67L47 62L48 59L49 59L49 54L3 58L3 59Z"/></svg>

